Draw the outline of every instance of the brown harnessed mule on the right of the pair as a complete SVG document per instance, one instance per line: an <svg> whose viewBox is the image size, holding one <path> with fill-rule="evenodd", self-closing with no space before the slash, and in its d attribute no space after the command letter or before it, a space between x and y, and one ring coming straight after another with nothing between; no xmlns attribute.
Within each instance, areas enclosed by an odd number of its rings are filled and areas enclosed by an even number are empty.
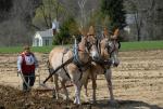
<svg viewBox="0 0 163 109"><path fill-rule="evenodd" d="M118 29L116 29L114 31L114 35L111 37L109 37L109 33L105 29L103 36L104 38L99 43L100 52L98 55L93 57L95 62L91 63L91 68L90 68L90 78L92 80L92 90L93 90L92 100L93 103L96 103L97 74L104 74L110 91L111 103L115 103L113 96L112 81L111 81L111 77L112 77L111 65L117 67L120 64L120 60L117 58L117 53L120 49L120 43L117 42ZM87 95L87 84L88 84L88 79L84 84L86 90L86 95Z"/></svg>

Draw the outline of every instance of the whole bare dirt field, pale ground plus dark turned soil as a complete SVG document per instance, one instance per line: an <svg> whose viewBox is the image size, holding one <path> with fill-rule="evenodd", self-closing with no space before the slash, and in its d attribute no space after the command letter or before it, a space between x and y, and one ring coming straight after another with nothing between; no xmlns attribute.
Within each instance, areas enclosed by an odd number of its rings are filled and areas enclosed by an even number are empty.
<svg viewBox="0 0 163 109"><path fill-rule="evenodd" d="M75 106L52 98L51 92L40 93L39 81L48 76L47 54L36 53L40 66L30 93L20 91L22 81L16 73L16 54L0 54L0 109L161 109L163 108L163 50L120 52L121 65L113 68L114 96L118 106L108 104L109 92L103 76L98 76L97 105ZM51 82L47 85L52 86ZM88 84L91 97L91 82ZM73 87L68 92L73 95Z"/></svg>

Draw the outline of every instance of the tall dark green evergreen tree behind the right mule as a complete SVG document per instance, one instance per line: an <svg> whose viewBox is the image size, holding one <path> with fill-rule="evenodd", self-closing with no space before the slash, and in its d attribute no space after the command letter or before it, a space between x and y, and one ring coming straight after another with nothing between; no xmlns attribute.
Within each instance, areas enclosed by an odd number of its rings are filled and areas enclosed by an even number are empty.
<svg viewBox="0 0 163 109"><path fill-rule="evenodd" d="M103 17L109 17L111 29L123 27L126 24L123 0L102 0L101 12Z"/></svg>

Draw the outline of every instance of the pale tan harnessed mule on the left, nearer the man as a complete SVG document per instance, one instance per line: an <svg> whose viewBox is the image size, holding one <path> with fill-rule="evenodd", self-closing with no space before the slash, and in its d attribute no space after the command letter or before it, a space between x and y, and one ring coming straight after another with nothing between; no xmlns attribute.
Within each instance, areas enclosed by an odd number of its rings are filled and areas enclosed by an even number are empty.
<svg viewBox="0 0 163 109"><path fill-rule="evenodd" d="M89 32L93 28L90 27ZM68 99L68 93L65 86L66 81L73 82L75 87L75 100L74 104L80 104L80 90L84 81L87 79L90 72L89 67L91 65L91 57L96 55L96 39L93 35L84 35L78 45L75 44L74 51L66 50L65 47L54 47L49 55L49 63L51 68L57 69L58 66L73 57L73 62L61 68L54 74L55 93L59 96L58 80L61 81L61 85ZM98 53L98 52L97 52Z"/></svg>

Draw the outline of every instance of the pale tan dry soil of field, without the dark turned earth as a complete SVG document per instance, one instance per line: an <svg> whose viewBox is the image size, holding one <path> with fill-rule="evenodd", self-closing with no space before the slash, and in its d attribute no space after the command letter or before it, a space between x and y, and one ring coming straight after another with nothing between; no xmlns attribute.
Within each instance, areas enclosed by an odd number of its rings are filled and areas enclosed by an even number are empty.
<svg viewBox="0 0 163 109"><path fill-rule="evenodd" d="M10 85L21 88L21 79L16 74L16 54L0 54L1 85ZM37 74L40 73L40 78L37 77L37 81L35 83L36 88L39 86L39 79L42 81L48 76L46 67L47 56L47 54L37 54L40 63ZM163 108L163 50L121 52L120 59L121 65L117 68L113 68L114 96L120 103L118 108ZM52 86L50 82L47 84ZM89 97L91 97L91 82L88 87ZM73 92L71 92L72 87L68 90L70 93L73 94ZM47 96L51 98L50 94ZM35 98L35 96L33 97ZM110 107L108 104L109 97L104 77L99 76L97 91L98 104L93 105L92 108L108 109L108 107ZM4 101L0 103L0 105L1 104L4 104ZM50 103L47 101L47 104Z"/></svg>

